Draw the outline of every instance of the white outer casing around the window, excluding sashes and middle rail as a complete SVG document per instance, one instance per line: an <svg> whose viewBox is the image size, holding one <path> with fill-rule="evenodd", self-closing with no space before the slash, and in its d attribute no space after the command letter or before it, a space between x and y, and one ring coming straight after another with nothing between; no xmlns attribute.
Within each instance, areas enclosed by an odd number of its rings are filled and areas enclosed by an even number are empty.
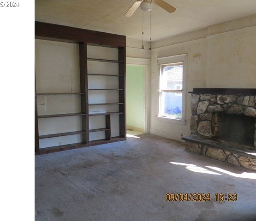
<svg viewBox="0 0 256 221"><path fill-rule="evenodd" d="M171 123L177 123L180 125L185 125L185 119L186 119L186 96L187 96L187 54L180 54L175 56L169 56L164 58L156 58L157 67L159 70L159 111L156 118L159 121L163 122L171 122ZM182 63L183 65L183 91L182 91L182 118L172 118L172 117L164 117L161 116L161 65L162 64L177 64Z"/></svg>

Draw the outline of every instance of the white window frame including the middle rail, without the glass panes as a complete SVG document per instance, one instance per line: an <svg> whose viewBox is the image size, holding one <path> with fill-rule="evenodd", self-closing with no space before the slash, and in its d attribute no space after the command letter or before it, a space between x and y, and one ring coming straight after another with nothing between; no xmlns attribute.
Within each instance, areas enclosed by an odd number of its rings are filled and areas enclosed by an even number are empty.
<svg viewBox="0 0 256 221"><path fill-rule="evenodd" d="M186 85L186 75L187 75L187 55L177 55L177 56L170 56L165 58L157 58L157 66L159 70L159 111L158 115L156 116L158 120L164 122L173 122L178 123L181 125L185 125L185 113L186 113L186 92L187 92L187 85ZM183 75L182 75L182 90L163 90L162 89L162 69L166 66L171 65L183 65ZM162 92L171 92L171 93L182 93L182 117L170 117L170 116L162 116L161 115L161 95Z"/></svg>

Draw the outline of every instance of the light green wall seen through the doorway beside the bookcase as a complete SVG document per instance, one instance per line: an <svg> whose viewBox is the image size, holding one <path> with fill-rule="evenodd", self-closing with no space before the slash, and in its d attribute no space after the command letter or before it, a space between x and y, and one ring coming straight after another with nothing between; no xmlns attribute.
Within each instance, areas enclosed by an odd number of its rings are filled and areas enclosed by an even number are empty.
<svg viewBox="0 0 256 221"><path fill-rule="evenodd" d="M126 124L144 129L144 67L126 65Z"/></svg>

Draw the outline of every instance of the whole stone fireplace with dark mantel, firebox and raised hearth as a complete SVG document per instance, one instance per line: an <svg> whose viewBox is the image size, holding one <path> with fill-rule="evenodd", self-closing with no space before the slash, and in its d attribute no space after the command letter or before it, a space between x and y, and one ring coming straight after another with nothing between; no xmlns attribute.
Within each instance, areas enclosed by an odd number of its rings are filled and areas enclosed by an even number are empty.
<svg viewBox="0 0 256 221"><path fill-rule="evenodd" d="M194 88L186 149L256 170L256 89Z"/></svg>

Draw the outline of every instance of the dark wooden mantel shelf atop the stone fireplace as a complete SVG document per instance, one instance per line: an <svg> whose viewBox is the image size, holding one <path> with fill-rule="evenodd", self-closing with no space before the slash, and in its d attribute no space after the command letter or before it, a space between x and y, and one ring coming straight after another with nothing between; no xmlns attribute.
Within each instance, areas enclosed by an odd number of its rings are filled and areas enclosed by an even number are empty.
<svg viewBox="0 0 256 221"><path fill-rule="evenodd" d="M236 94L236 95L256 95L256 88L193 88L188 93L195 94Z"/></svg>

